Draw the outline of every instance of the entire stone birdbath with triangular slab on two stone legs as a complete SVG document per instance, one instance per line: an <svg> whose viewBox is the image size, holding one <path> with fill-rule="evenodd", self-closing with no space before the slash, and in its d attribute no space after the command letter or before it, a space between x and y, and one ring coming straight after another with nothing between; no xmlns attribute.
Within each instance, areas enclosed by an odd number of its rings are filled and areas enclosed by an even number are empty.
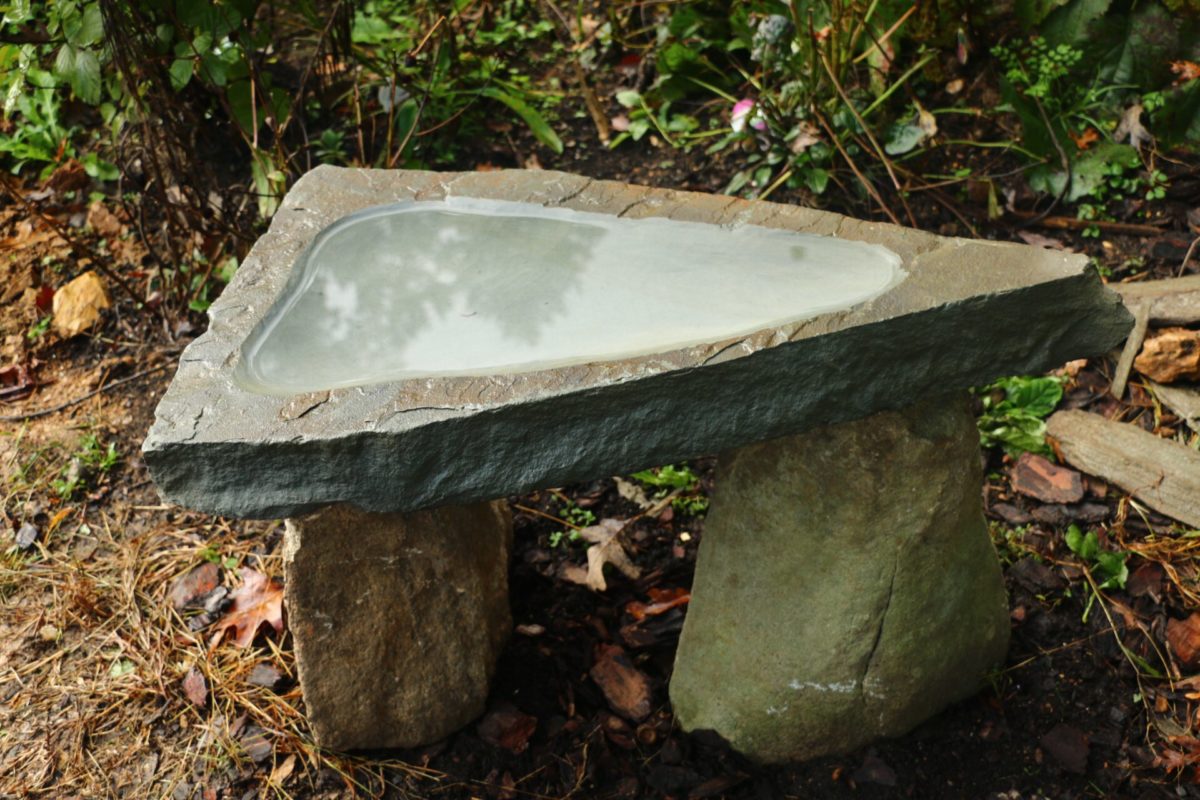
<svg viewBox="0 0 1200 800"><path fill-rule="evenodd" d="M1086 259L553 172L320 167L180 360L162 495L287 518L318 744L485 705L496 498L720 452L670 693L763 762L899 735L1003 663L966 389L1120 343Z"/></svg>

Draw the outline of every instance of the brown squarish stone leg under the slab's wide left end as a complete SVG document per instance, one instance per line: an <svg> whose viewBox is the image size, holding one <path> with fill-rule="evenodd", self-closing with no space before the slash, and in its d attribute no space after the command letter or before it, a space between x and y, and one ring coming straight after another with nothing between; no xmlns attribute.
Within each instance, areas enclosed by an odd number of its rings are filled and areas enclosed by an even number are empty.
<svg viewBox="0 0 1200 800"><path fill-rule="evenodd" d="M287 522L286 602L317 742L414 747L484 711L508 639L503 503Z"/></svg>

